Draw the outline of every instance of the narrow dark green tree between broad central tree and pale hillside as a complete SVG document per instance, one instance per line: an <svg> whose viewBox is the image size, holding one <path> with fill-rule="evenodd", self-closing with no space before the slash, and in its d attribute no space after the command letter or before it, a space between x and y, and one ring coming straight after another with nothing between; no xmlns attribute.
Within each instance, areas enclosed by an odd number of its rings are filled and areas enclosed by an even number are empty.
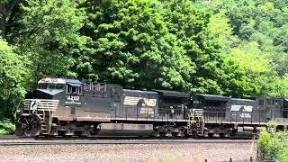
<svg viewBox="0 0 288 162"><path fill-rule="evenodd" d="M190 91L223 94L222 84L226 84L223 59L219 43L208 27L211 15L186 0L170 1L166 8L169 31L175 34L179 46L195 65Z"/></svg>

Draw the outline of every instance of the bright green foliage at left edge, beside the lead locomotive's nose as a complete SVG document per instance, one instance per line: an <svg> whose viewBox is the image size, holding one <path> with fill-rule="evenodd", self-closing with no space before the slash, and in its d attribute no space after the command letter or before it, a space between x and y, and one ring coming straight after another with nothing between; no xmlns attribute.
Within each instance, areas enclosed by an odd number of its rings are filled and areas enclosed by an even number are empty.
<svg viewBox="0 0 288 162"><path fill-rule="evenodd" d="M15 48L0 39L0 119L12 119L14 111L22 100L25 80L29 76L26 57L16 54Z"/></svg>

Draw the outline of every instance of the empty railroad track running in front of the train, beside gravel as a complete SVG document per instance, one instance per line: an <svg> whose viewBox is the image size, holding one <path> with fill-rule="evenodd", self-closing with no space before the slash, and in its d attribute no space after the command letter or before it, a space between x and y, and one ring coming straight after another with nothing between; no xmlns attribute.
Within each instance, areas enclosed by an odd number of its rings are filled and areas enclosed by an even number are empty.
<svg viewBox="0 0 288 162"><path fill-rule="evenodd" d="M23 145L99 145L99 144L199 144L199 143L252 143L252 139L97 139L97 140L35 140L1 139L0 146Z"/></svg>

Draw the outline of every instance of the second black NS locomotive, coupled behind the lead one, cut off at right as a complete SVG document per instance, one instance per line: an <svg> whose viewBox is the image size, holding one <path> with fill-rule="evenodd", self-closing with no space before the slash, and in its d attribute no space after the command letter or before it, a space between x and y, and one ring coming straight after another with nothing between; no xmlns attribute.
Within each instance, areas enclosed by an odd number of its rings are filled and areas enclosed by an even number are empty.
<svg viewBox="0 0 288 162"><path fill-rule="evenodd" d="M284 130L288 123L288 103L282 98L254 97L248 99L231 98L221 95L193 94L192 111L194 122L201 125L200 136L220 137L242 134L259 134L266 129L269 121L277 123L278 130ZM196 116L196 117L194 117Z"/></svg>

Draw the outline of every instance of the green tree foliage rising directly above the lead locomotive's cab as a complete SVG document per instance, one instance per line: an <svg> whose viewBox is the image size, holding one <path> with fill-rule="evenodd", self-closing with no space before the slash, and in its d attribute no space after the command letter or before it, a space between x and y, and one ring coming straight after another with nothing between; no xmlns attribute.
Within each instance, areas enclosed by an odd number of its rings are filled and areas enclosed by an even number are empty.
<svg viewBox="0 0 288 162"><path fill-rule="evenodd" d="M26 0L20 5L19 26L8 38L14 38L19 50L31 60L31 79L43 76L76 76L69 68L73 55L85 38L79 35L85 13L78 1Z"/></svg>

